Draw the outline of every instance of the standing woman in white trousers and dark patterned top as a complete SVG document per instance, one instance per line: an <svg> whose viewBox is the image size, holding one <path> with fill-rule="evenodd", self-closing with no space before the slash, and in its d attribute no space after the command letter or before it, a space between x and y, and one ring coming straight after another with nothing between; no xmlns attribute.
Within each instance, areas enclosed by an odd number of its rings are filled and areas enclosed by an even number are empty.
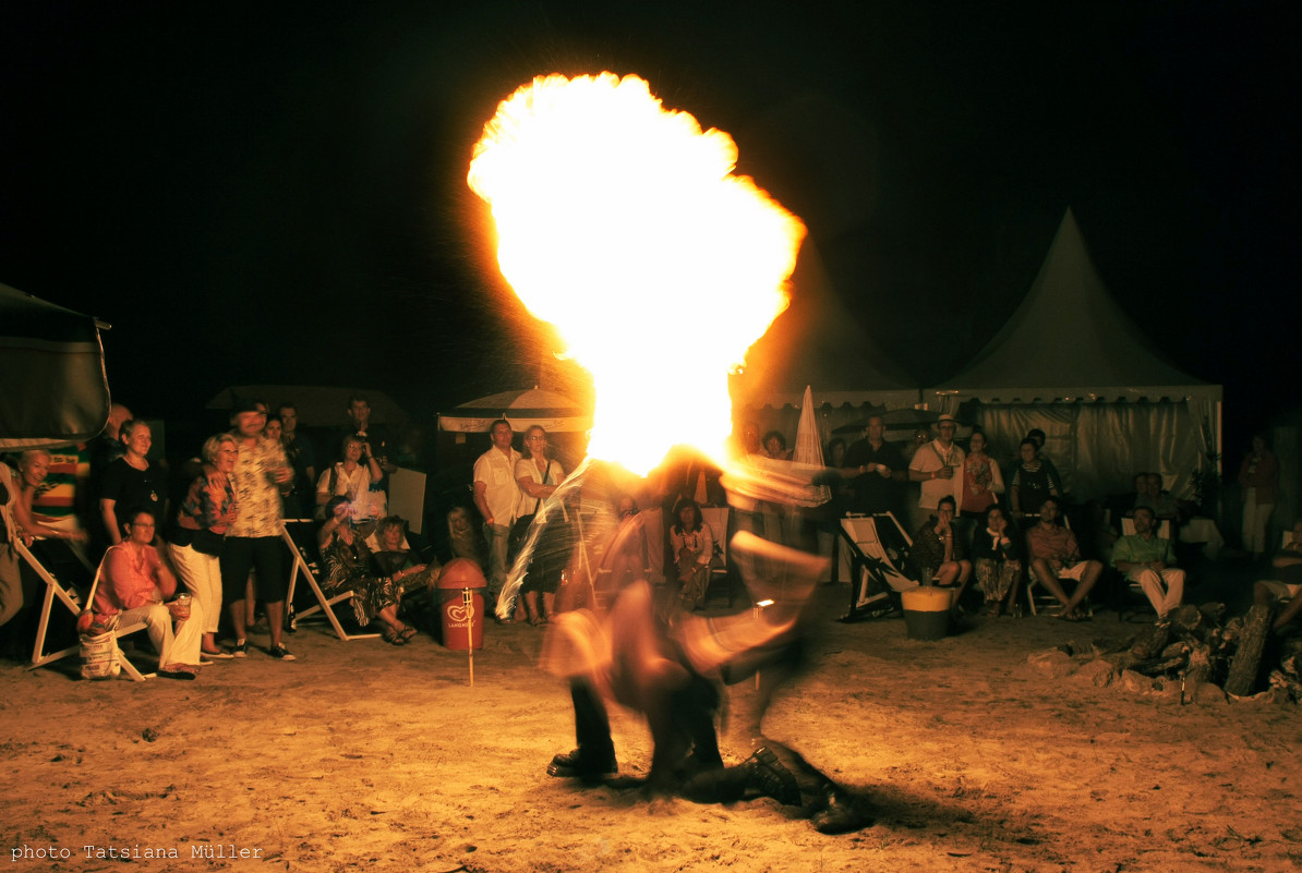
<svg viewBox="0 0 1302 873"><path fill-rule="evenodd" d="M230 472L238 446L229 433L211 436L203 444L203 472L190 483L168 544L172 565L203 610L202 653L208 658L229 658L217 645L221 621L221 540L234 520L236 492Z"/></svg>

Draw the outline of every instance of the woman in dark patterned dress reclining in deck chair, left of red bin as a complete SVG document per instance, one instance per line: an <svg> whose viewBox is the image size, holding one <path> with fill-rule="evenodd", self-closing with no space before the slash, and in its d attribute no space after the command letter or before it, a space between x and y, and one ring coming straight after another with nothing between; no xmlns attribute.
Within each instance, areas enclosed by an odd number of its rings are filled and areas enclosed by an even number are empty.
<svg viewBox="0 0 1302 873"><path fill-rule="evenodd" d="M366 627L380 621L380 636L392 645L404 645L415 636L415 628L398 619L402 589L393 576L371 575L371 550L366 539L353 527L353 506L346 497L333 497L326 504L327 519L316 535L326 566L324 591L353 592L353 615Z"/></svg>

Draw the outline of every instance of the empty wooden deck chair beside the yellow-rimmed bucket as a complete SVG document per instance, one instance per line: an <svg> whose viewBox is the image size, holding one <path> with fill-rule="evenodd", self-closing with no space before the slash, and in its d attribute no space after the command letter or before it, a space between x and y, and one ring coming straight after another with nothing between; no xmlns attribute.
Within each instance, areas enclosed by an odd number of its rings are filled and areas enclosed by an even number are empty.
<svg viewBox="0 0 1302 873"><path fill-rule="evenodd" d="M900 592L918 583L904 574L913 540L893 513L849 514L841 519L841 545L850 554L850 611L846 619L885 614L897 608Z"/></svg>

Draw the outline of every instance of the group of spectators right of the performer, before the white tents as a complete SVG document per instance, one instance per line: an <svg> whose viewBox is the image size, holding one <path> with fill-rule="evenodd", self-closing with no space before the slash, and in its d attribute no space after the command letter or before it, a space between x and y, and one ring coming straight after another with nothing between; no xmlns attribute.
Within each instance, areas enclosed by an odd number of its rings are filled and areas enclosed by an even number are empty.
<svg viewBox="0 0 1302 873"><path fill-rule="evenodd" d="M1177 552L1198 554L1181 548L1180 532L1195 507L1167 492L1160 474L1135 472L1131 493L1073 505L1044 454L1043 431L1027 432L1003 464L988 455L979 428L966 450L957 431L952 416L940 415L934 431L919 427L893 444L884 438L884 419L870 416L862 438L829 442L825 461L840 474L829 533L846 511L893 514L913 540L905 572L960 589L973 574L990 615L1016 611L1027 584L1052 595L1068 621L1088 617L1100 582L1113 596L1128 585L1142 591L1159 622L1182 602L1186 570L1177 566ZM1277 459L1262 437L1254 438L1238 477L1243 544L1254 558L1271 550L1266 527L1277 480ZM1289 556L1282 561L1292 566Z"/></svg>

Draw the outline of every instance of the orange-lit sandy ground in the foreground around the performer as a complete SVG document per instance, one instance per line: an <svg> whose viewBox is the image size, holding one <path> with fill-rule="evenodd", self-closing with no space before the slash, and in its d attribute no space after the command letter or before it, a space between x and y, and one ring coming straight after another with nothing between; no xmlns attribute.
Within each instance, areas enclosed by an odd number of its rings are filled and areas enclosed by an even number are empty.
<svg viewBox="0 0 1302 873"><path fill-rule="evenodd" d="M1302 864L1297 706L1215 693L1182 705L1178 691L1100 688L1038 662L1138 628L1111 611L971 618L923 643L898 618L837 623L842 606L841 589L820 592L812 669L764 727L865 795L874 821L854 834L819 834L768 799L697 805L548 778L573 721L564 684L535 666L538 628L490 626L469 687L466 654L428 636L340 643L314 625L288 638L294 664L259 651L193 683L7 665L0 868L122 869L111 850L150 870ZM746 684L732 695L734 716L754 703ZM642 719L612 719L621 772L644 774ZM750 752L750 738L725 743L730 760ZM9 860L25 850L70 857Z"/></svg>

